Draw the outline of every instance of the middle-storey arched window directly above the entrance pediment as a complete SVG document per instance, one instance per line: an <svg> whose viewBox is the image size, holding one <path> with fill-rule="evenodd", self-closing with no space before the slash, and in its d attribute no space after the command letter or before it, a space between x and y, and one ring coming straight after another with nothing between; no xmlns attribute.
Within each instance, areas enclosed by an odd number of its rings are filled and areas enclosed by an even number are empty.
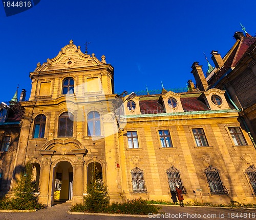
<svg viewBox="0 0 256 220"><path fill-rule="evenodd" d="M59 116L59 137L73 136L74 116L70 112L64 112Z"/></svg>

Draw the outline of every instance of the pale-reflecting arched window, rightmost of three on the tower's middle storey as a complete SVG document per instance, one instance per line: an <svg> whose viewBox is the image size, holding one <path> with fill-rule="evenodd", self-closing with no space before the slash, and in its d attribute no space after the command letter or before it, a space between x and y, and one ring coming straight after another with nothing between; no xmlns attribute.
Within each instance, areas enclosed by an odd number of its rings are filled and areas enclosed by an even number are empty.
<svg viewBox="0 0 256 220"><path fill-rule="evenodd" d="M100 114L91 111L87 115L88 136L100 136Z"/></svg>

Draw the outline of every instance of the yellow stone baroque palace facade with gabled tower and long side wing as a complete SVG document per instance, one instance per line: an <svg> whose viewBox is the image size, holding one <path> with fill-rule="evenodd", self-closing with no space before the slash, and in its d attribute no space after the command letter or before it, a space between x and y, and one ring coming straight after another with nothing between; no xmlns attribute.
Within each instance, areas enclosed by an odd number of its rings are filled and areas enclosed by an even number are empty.
<svg viewBox="0 0 256 220"><path fill-rule="evenodd" d="M202 74L196 62L193 73ZM112 201L176 201L179 184L185 201L196 193L255 203L255 148L225 91L190 81L189 92L118 95L113 77L104 55L83 54L72 40L37 64L29 100L2 103L10 112L0 121L2 195L31 162L40 202L81 203L95 162Z"/></svg>

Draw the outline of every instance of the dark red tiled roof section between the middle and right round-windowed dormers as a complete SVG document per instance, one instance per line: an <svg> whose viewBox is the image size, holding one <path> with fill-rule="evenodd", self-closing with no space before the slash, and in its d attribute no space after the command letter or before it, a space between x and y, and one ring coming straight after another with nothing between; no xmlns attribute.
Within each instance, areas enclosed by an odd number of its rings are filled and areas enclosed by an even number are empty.
<svg viewBox="0 0 256 220"><path fill-rule="evenodd" d="M210 110L203 102L197 97L181 97L180 98L184 111L207 111Z"/></svg>

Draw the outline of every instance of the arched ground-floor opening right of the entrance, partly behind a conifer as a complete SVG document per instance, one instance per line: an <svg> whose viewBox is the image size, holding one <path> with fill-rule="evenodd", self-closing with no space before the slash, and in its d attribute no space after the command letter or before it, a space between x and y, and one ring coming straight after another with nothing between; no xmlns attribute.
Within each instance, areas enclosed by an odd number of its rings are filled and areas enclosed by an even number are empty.
<svg viewBox="0 0 256 220"><path fill-rule="evenodd" d="M99 183L103 183L102 166L98 162L91 162L87 166L87 184L92 184L93 175L95 174L95 180Z"/></svg>

